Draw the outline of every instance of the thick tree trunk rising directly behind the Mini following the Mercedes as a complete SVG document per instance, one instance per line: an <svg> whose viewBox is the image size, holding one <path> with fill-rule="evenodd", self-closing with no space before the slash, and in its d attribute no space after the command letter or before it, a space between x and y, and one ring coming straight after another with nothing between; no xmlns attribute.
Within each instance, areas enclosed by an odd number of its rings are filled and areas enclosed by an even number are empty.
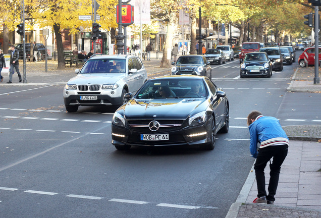
<svg viewBox="0 0 321 218"><path fill-rule="evenodd" d="M167 59L167 53L172 49L173 47L173 36L174 36L174 15L170 15L170 20L167 24L167 33L166 33L166 40L165 40L165 46L164 46L164 51L163 51L163 59L161 62L161 67L162 68L170 68L171 67L171 59Z"/></svg>

